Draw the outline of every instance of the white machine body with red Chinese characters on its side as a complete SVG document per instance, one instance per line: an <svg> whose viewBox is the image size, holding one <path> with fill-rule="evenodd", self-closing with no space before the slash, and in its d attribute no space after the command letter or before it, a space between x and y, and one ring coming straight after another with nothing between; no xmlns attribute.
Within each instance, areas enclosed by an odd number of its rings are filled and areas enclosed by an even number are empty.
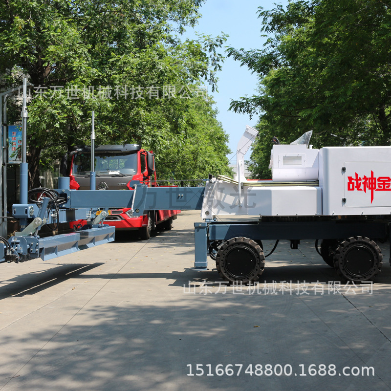
<svg viewBox="0 0 391 391"><path fill-rule="evenodd" d="M391 214L391 147L274 145L272 180L207 183L201 217Z"/></svg>

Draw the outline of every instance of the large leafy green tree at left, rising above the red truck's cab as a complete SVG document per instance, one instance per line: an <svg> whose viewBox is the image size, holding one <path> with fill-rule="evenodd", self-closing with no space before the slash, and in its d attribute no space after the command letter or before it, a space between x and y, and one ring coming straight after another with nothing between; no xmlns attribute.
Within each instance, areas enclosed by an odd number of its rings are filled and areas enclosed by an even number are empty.
<svg viewBox="0 0 391 391"><path fill-rule="evenodd" d="M185 131L188 113L180 89L197 89L201 79L214 89L223 60L217 50L225 37L178 38L195 25L202 2L1 2L0 87L19 85L24 75L35 86L28 105L33 186L40 159L88 143L91 110L97 144L134 141L161 151L156 140L163 143L166 134L174 141ZM173 99L161 99L164 87L176 88ZM212 120L211 113L205 120Z"/></svg>

